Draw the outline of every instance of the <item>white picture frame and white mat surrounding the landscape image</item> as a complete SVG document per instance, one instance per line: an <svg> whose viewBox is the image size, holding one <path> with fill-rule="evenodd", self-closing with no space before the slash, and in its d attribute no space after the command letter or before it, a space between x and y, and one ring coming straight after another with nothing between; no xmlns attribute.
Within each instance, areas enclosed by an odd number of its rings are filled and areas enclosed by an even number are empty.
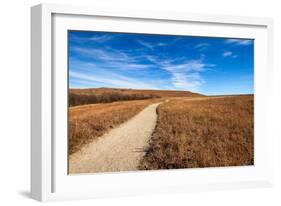
<svg viewBox="0 0 281 206"><path fill-rule="evenodd" d="M96 19L100 19L102 25ZM116 21L118 26L114 24ZM130 26L133 24L138 26ZM154 28L156 24L159 25L157 30ZM173 29L167 30L167 25ZM272 19L40 4L31 9L31 26L32 198L53 201L273 185L273 134L267 127L270 118L267 110L271 104L271 96L267 91L271 91L274 75ZM66 112L67 101L65 31L98 27L98 30L111 28L110 31L119 32L188 33L257 40L255 166L95 174L70 178L65 171L67 137L63 127L67 122L62 114ZM192 27L191 31L186 30L188 27ZM58 134L63 137L58 139ZM79 185L83 185L83 189Z"/></svg>

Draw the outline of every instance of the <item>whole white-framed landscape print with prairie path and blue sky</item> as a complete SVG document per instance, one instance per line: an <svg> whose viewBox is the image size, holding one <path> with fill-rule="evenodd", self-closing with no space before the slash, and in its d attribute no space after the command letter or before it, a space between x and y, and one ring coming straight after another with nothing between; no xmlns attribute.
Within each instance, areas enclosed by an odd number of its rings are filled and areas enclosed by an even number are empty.
<svg viewBox="0 0 281 206"><path fill-rule="evenodd" d="M271 19L31 14L34 199L272 185Z"/></svg>

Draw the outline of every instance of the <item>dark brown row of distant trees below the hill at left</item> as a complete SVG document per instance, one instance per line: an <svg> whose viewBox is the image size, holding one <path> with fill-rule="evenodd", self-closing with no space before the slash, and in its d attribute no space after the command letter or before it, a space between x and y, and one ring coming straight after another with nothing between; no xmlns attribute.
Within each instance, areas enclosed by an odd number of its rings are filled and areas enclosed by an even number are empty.
<svg viewBox="0 0 281 206"><path fill-rule="evenodd" d="M69 106L77 106L83 104L98 104L98 103L110 103L116 101L128 101L128 100L141 100L159 98L157 95L144 95L144 94L122 94L118 92L104 93L104 94L69 94Z"/></svg>

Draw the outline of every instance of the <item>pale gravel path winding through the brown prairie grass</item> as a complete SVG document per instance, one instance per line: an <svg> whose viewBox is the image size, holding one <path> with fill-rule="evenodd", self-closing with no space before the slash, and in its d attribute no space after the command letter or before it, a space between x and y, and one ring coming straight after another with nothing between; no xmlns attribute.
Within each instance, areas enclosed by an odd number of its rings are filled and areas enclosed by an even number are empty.
<svg viewBox="0 0 281 206"><path fill-rule="evenodd" d="M155 128L159 104L147 106L129 121L72 154L69 173L137 170Z"/></svg>

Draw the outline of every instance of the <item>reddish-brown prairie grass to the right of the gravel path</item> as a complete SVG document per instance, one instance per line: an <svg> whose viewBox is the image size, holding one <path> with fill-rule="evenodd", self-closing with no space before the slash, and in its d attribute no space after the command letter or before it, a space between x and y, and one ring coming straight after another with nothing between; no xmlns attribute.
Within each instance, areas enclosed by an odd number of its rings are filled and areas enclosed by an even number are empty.
<svg viewBox="0 0 281 206"><path fill-rule="evenodd" d="M253 127L252 95L171 100L140 169L253 165Z"/></svg>

